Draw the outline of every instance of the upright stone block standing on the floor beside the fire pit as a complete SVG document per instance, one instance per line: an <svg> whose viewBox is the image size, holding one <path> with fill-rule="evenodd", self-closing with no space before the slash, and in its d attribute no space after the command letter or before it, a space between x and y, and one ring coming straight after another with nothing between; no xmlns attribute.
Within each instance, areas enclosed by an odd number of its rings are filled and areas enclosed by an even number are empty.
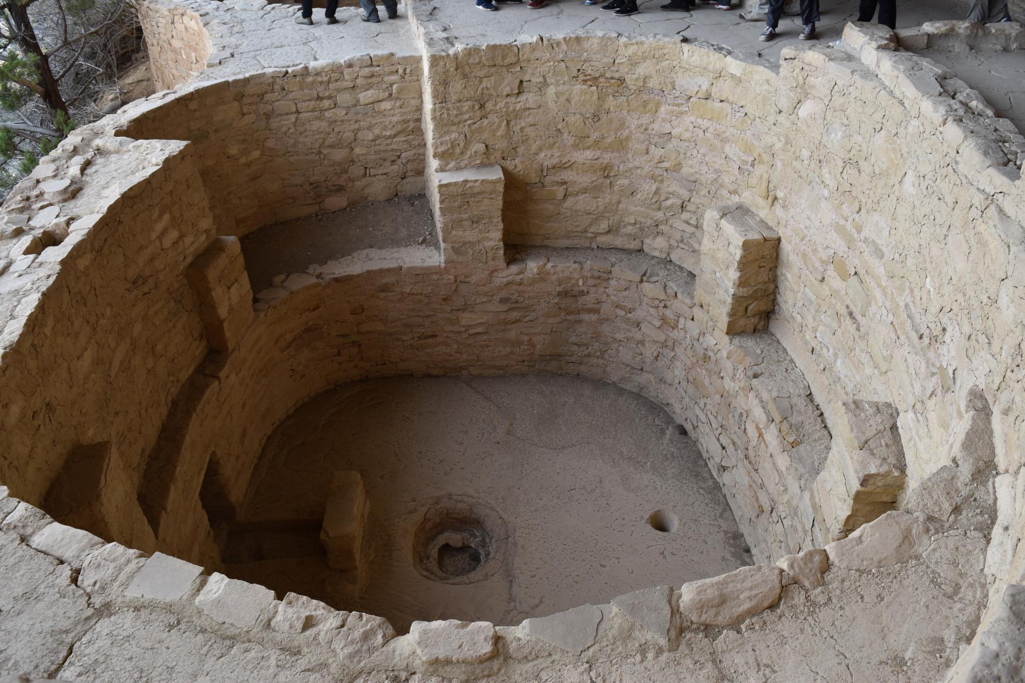
<svg viewBox="0 0 1025 683"><path fill-rule="evenodd" d="M363 527L370 511L359 472L335 472L327 499L321 545L332 569L353 571L360 567Z"/></svg>

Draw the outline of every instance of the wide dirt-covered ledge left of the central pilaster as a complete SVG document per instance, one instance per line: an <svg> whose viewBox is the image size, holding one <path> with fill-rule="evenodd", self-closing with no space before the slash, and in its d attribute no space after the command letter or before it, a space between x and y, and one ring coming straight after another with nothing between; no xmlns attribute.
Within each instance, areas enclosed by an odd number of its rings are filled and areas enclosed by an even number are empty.
<svg viewBox="0 0 1025 683"><path fill-rule="evenodd" d="M253 293L272 286L276 275L305 273L364 249L438 248L438 230L423 195L369 202L254 230L242 238Z"/></svg>

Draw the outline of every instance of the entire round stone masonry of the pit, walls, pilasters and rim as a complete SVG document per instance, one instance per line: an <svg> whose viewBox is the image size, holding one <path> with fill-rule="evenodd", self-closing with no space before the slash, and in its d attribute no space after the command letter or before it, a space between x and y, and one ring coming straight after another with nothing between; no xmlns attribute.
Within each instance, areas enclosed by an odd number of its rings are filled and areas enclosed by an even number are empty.
<svg viewBox="0 0 1025 683"><path fill-rule="evenodd" d="M231 64L210 35L236 4L146 3L177 87L76 131L4 206L0 672L1014 680L1025 137L916 38L850 25L777 73L656 37L460 46L413 2L415 56L199 81ZM440 250L248 306L234 237L422 192ZM401 637L216 573L231 510L201 500L237 507L292 410L462 372L664 405L760 564ZM29 504L65 499L83 452L102 483L76 529Z"/></svg>

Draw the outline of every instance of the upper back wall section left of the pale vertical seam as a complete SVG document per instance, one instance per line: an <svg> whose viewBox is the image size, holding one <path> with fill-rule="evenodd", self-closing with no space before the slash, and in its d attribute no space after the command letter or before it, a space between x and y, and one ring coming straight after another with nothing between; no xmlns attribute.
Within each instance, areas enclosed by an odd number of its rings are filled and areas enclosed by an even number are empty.
<svg viewBox="0 0 1025 683"><path fill-rule="evenodd" d="M158 93L120 134L195 143L220 235L423 192L420 61L360 55Z"/></svg>

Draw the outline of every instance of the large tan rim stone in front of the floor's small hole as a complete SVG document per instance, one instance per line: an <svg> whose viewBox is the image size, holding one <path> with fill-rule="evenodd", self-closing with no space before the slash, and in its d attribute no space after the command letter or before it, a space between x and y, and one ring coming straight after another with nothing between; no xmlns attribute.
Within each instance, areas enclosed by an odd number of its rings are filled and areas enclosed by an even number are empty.
<svg viewBox="0 0 1025 683"><path fill-rule="evenodd" d="M779 567L741 567L722 576L685 584L680 589L680 610L697 624L735 626L779 602L782 590Z"/></svg>

